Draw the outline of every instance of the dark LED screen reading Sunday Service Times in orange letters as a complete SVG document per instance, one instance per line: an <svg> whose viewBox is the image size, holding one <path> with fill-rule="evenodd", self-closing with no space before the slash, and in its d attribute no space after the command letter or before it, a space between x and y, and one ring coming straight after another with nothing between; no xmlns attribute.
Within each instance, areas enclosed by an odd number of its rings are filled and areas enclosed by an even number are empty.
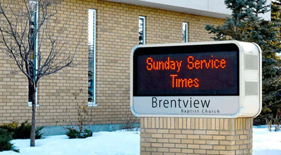
<svg viewBox="0 0 281 155"><path fill-rule="evenodd" d="M237 56L238 51L137 56L134 95L238 95Z"/></svg>

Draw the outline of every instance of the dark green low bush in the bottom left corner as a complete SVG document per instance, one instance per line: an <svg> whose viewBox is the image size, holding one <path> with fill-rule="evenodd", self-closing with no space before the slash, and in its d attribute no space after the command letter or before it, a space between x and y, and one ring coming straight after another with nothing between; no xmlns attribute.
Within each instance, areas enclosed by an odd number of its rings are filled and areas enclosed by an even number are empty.
<svg viewBox="0 0 281 155"><path fill-rule="evenodd" d="M19 152L19 149L15 149L15 146L11 143L11 140L13 139L12 134L12 132L0 128L0 152L9 150Z"/></svg>

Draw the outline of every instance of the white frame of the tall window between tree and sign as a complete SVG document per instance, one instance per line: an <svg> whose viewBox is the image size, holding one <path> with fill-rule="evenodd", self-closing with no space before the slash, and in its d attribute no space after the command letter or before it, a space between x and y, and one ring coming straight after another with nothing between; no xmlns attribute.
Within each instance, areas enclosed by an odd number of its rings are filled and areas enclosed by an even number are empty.
<svg viewBox="0 0 281 155"><path fill-rule="evenodd" d="M88 102L88 107L95 107L98 106L96 103L96 24L97 24L97 10L96 9L88 9L88 13L93 11L93 102ZM89 24L89 14L88 14L88 24ZM89 27L88 27L88 40L89 40ZM88 53L89 56L89 53ZM89 58L88 58L89 59ZM88 60L89 62L89 60ZM89 69L88 69L89 71ZM89 84L89 83L88 83ZM88 87L89 89L89 87Z"/></svg>

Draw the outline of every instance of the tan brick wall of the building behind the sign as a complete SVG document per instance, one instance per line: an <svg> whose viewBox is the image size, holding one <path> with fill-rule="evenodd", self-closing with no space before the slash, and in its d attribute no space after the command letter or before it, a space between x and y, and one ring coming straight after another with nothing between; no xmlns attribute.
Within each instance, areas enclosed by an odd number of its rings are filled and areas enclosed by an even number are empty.
<svg viewBox="0 0 281 155"><path fill-rule="evenodd" d="M7 1L4 1L6 3ZM11 1L9 1L11 2ZM20 7L20 0L12 1L12 7ZM130 112L130 52L138 44L138 17L146 17L146 44L182 42L182 22L188 22L188 42L210 41L212 35L205 31L205 24L222 24L225 19L172 12L162 9L129 5L102 0L66 0L58 12L59 21L72 17L70 28L56 35L71 33L68 50L81 37L75 68L40 79L38 86L37 125L67 125L76 120L76 101L87 101L87 22L88 9L97 10L96 22L96 102L93 111L94 124L124 123ZM79 32L80 35L73 34ZM28 107L28 83L15 63L0 53L0 123L31 119ZM68 112L66 112L66 109ZM68 122L68 123L67 123Z"/></svg>

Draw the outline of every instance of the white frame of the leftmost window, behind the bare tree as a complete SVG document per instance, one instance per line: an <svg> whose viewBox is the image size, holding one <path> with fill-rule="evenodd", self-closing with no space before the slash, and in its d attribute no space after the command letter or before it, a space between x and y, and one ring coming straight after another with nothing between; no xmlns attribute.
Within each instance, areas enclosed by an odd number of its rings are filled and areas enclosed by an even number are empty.
<svg viewBox="0 0 281 155"><path fill-rule="evenodd" d="M38 16L39 16L39 8L38 8L38 2L37 1L29 1L29 6L30 6L30 3L35 3L36 4L36 18L34 22L36 22L36 27L38 27ZM38 33L36 33L36 40L35 40L35 50L34 50L34 64L35 64L35 73L34 75L37 74L38 72L38 58L37 58L37 55L38 55ZM36 76L34 77L34 80L36 80ZM36 86L36 93L35 93L35 100L36 100L36 107L39 107L39 104L38 104L38 85ZM32 107L32 102L29 102L28 101L28 106L29 107Z"/></svg>

